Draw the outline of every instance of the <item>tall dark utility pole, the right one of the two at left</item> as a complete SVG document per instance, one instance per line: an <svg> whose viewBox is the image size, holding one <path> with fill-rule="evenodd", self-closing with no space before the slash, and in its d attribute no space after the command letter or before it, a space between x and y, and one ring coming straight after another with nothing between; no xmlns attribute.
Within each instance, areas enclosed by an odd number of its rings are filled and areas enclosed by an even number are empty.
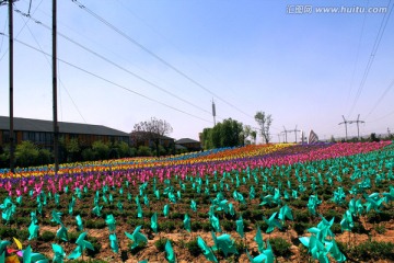
<svg viewBox="0 0 394 263"><path fill-rule="evenodd" d="M54 158L55 158L55 174L59 171L59 126L57 121L57 41L56 41L56 23L57 10L56 0L53 0L53 103L54 103Z"/></svg>

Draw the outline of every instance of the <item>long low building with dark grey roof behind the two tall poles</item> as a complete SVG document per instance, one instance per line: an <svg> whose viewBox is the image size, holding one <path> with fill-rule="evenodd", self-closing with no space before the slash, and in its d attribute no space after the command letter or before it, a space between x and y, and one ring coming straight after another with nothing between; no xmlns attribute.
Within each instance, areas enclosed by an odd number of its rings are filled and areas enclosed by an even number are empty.
<svg viewBox="0 0 394 263"><path fill-rule="evenodd" d="M77 138L80 146L89 147L96 140L104 142L125 141L130 144L129 134L113 129L103 125L79 124L58 122L59 138L65 142ZM43 148L53 148L54 144L54 123L51 121L33 118L13 118L14 141L20 144L30 140ZM9 144L10 140L10 118L0 116L0 147Z"/></svg>

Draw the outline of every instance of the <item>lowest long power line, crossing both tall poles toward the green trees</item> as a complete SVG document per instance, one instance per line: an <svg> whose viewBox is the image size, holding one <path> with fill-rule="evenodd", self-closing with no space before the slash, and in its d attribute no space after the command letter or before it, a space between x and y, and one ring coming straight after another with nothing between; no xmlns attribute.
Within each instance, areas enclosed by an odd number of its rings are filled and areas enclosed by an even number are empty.
<svg viewBox="0 0 394 263"><path fill-rule="evenodd" d="M5 36L8 36L8 35L4 34L4 33L0 33L0 35L5 35ZM16 39L16 38L14 38L14 41L15 41L16 43L20 43L20 44L22 44L22 45L31 48L31 49L36 50L36 52L38 52L38 53L43 53L43 54L45 54L46 56L51 56L50 54L48 54L48 53L46 53L46 52L43 52L43 50L39 50L38 48L36 48L36 47L34 47L34 46L25 43L25 42L22 42L22 41ZM101 77L101 76L99 76L99 75L96 75L96 73L93 73L93 72L91 72L91 71L89 71L89 70L86 70L86 69L83 69L83 68L81 68L81 67L79 67L79 66L76 66L76 65L73 65L73 64L71 64L71 62L68 62L68 61L66 61L66 60L63 60L63 59L61 59L61 58L58 58L57 60L60 61L60 62L62 62L62 64L65 64L65 65L68 65L68 66L70 66L70 67L72 67L72 68L74 68L74 69L78 69L78 70L80 70L80 71L82 71L82 72L84 72L84 73L86 73L86 75L90 75L90 76L92 76L92 77L95 77L95 78L97 78L97 79L100 79L100 80L102 80L102 81L104 81L104 82L107 82L107 83L109 83L109 84L112 84L112 85L115 85L115 87L117 87L117 88L119 88L119 89L123 89L123 90L125 90L125 91L127 91L127 92L134 93L134 94L136 94L136 95L138 95L138 96L141 96L141 98L144 98L146 100L149 100L149 101L151 101L151 102L158 103L158 104L160 104L160 105L163 105L163 106L169 107L169 108L171 108L171 110L174 110L174 111L176 111L176 112L183 113L183 114L188 115L188 116L190 116L190 117L194 117L194 118L197 118L197 119L207 122L207 123L211 123L211 122L208 121L208 119L205 119L205 118L202 118L202 117L196 116L196 115L194 115L194 114L190 114L190 113L188 113L188 112L185 112L185 111L183 111L183 110L179 110L179 108L177 108L177 107L174 107L174 106L172 106L172 105L169 105L169 104L166 104L166 103L164 103L164 102L161 102L161 101L159 101L159 100L152 99L152 98L150 98L150 96L143 95L143 94L137 92L137 91L134 91L134 90L131 90L131 89L129 89L129 88L127 88L127 87L124 87L124 85L121 85L121 84L118 84L118 83L116 83L116 82L114 82L114 81L112 81L112 80L108 80L108 79L106 79L106 78L104 78L104 77Z"/></svg>

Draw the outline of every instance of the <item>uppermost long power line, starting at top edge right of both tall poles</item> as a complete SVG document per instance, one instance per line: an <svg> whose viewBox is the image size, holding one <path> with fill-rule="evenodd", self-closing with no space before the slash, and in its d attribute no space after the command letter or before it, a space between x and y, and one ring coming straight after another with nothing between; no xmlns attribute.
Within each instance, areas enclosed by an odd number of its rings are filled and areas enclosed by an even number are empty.
<svg viewBox="0 0 394 263"><path fill-rule="evenodd" d="M112 28L113 31L115 31L116 33L118 33L120 36L125 37L127 41L129 41L130 43L132 43L134 45L138 46L139 48L141 48L142 50L144 50L146 53L148 53L149 55L151 55L152 57L154 57L155 59L158 59L159 61L161 61L162 64L164 64L165 66L167 66L169 68L171 68L172 70L174 70L175 72L177 72L178 75L181 75L182 77L184 77L185 79L187 79L188 81L190 81L192 83L194 83L195 85L199 87L200 89L207 91L208 93L210 93L211 95L216 96L217 99L219 99L220 101L224 102L225 104L228 104L229 106L235 108L236 111L243 113L244 115L252 117L250 114L243 112L242 110L240 110L239 107L236 107L235 105L231 104L230 102L225 101L224 99L222 99L221 96L219 96L218 94L216 94L215 92L212 92L211 90L209 90L208 88L206 88L205 85L202 85L201 83L199 83L198 81L194 80L192 77L189 77L188 75L184 73L181 69L176 68L175 66L173 66L172 64L170 64L169 61L166 61L165 59L163 59L162 57L160 57L159 55L157 55L155 53L153 53L152 50L150 50L148 47L146 47L144 45L140 44L139 42L137 42L135 38L130 37L129 35L127 35L126 33L124 33L121 30L117 28L115 25L113 25L112 23L109 23L108 21L106 21L105 19L103 19L102 16L100 16L99 14L96 14L95 12L93 12L92 10L90 10L89 8L86 8L84 4L82 4L81 2L79 2L78 0L71 0L71 2L76 3L80 9L84 10L85 12L88 12L89 14L91 14L92 16L94 16L95 19L97 19L100 22L102 22L103 24L105 24L106 26L108 26L109 28Z"/></svg>

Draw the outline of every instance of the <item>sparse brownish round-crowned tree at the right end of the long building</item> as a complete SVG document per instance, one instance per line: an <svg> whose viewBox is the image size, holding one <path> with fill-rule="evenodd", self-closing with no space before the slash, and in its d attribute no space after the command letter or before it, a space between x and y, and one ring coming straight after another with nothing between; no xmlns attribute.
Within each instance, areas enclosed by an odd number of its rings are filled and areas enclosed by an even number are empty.
<svg viewBox="0 0 394 263"><path fill-rule="evenodd" d="M132 134L136 140L151 140L155 145L157 153L160 156L160 139L173 132L171 125L163 119L151 117L150 121L140 122L134 126Z"/></svg>

